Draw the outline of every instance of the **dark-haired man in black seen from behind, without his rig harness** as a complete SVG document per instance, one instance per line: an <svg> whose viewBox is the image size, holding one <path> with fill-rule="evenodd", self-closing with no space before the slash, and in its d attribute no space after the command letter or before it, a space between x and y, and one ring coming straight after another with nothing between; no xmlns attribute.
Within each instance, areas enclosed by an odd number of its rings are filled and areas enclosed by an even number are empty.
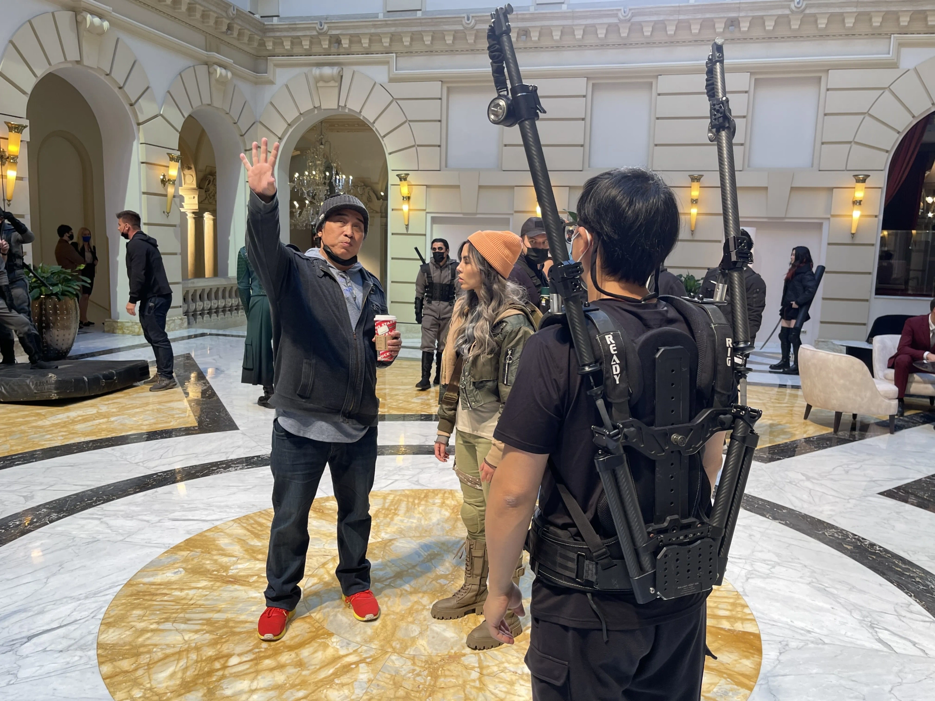
<svg viewBox="0 0 935 701"><path fill-rule="evenodd" d="M571 257L583 264L588 299L636 341L658 328L689 333L683 317L649 296L646 280L679 235L675 196L662 179L640 168L589 179L570 233ZM649 420L634 405L634 416ZM597 514L603 493L594 464L592 425L601 423L585 392L568 328L549 325L526 344L519 373L494 436L505 444L490 487L486 512L490 558L484 616L491 635L512 643L508 610L523 615L511 577L539 496L537 522L577 534L556 487L564 482L601 537L611 537ZM698 479L689 502L711 508L712 484L721 466L724 435L713 436L703 458L693 457ZM654 510L654 462L626 448L643 519ZM547 461L553 468L546 471ZM702 479L702 469L707 479ZM557 477L556 477L557 475ZM540 491L541 490L541 491ZM569 535L570 537L570 535ZM531 643L526 665L533 698L698 701L705 653L705 598L691 594L637 604L632 592L579 591L537 578L532 590Z"/></svg>

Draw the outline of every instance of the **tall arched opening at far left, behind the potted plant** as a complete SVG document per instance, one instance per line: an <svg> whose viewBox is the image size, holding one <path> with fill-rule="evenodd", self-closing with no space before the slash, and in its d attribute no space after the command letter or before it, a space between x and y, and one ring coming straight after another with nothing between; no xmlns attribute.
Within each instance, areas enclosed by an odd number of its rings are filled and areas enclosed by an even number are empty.
<svg viewBox="0 0 935 701"><path fill-rule="evenodd" d="M110 318L110 260L105 206L104 144L94 110L68 80L54 73L36 82L27 104L32 149L29 170L33 259L55 265L56 230L91 230L98 263L88 318L103 327ZM91 277L91 276L88 276Z"/></svg>

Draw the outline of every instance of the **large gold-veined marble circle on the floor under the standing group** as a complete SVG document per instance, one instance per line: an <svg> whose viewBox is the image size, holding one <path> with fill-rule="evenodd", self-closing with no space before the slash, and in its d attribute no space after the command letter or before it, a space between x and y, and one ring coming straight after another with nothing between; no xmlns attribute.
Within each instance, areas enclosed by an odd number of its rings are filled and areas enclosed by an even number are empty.
<svg viewBox="0 0 935 701"><path fill-rule="evenodd" d="M257 511L184 540L123 585L97 638L110 694L117 701L531 698L526 632L513 646L476 652L464 639L481 617L429 614L462 581L454 559L464 538L461 493L374 492L370 504L378 621L355 621L341 602L338 509L334 498L321 498L309 513L309 574L296 617L279 642L260 641L272 510ZM527 597L531 581L527 572ZM707 660L702 697L747 698L759 674L759 629L727 583L708 599L708 645L718 659Z"/></svg>

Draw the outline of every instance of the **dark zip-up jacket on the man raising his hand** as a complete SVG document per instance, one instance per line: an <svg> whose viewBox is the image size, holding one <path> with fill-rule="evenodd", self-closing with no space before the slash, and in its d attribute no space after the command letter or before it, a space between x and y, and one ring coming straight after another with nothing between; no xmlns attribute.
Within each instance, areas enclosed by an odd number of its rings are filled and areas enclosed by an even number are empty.
<svg viewBox="0 0 935 701"><path fill-rule="evenodd" d="M280 241L276 197L250 194L247 254L266 295L273 322L276 408L304 411L324 421L376 425L377 348L374 316L386 313L380 280L362 270L364 301L354 328L340 283L321 258Z"/></svg>

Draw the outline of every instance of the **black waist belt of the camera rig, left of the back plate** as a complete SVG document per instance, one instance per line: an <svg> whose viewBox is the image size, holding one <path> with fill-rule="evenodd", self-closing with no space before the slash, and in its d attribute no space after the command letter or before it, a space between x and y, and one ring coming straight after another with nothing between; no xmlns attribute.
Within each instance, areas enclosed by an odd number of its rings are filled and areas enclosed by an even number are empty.
<svg viewBox="0 0 935 701"><path fill-rule="evenodd" d="M536 576L556 586L583 592L632 591L617 539L602 542L608 556L598 562L583 540L556 536L553 529L533 519L526 550Z"/></svg>

